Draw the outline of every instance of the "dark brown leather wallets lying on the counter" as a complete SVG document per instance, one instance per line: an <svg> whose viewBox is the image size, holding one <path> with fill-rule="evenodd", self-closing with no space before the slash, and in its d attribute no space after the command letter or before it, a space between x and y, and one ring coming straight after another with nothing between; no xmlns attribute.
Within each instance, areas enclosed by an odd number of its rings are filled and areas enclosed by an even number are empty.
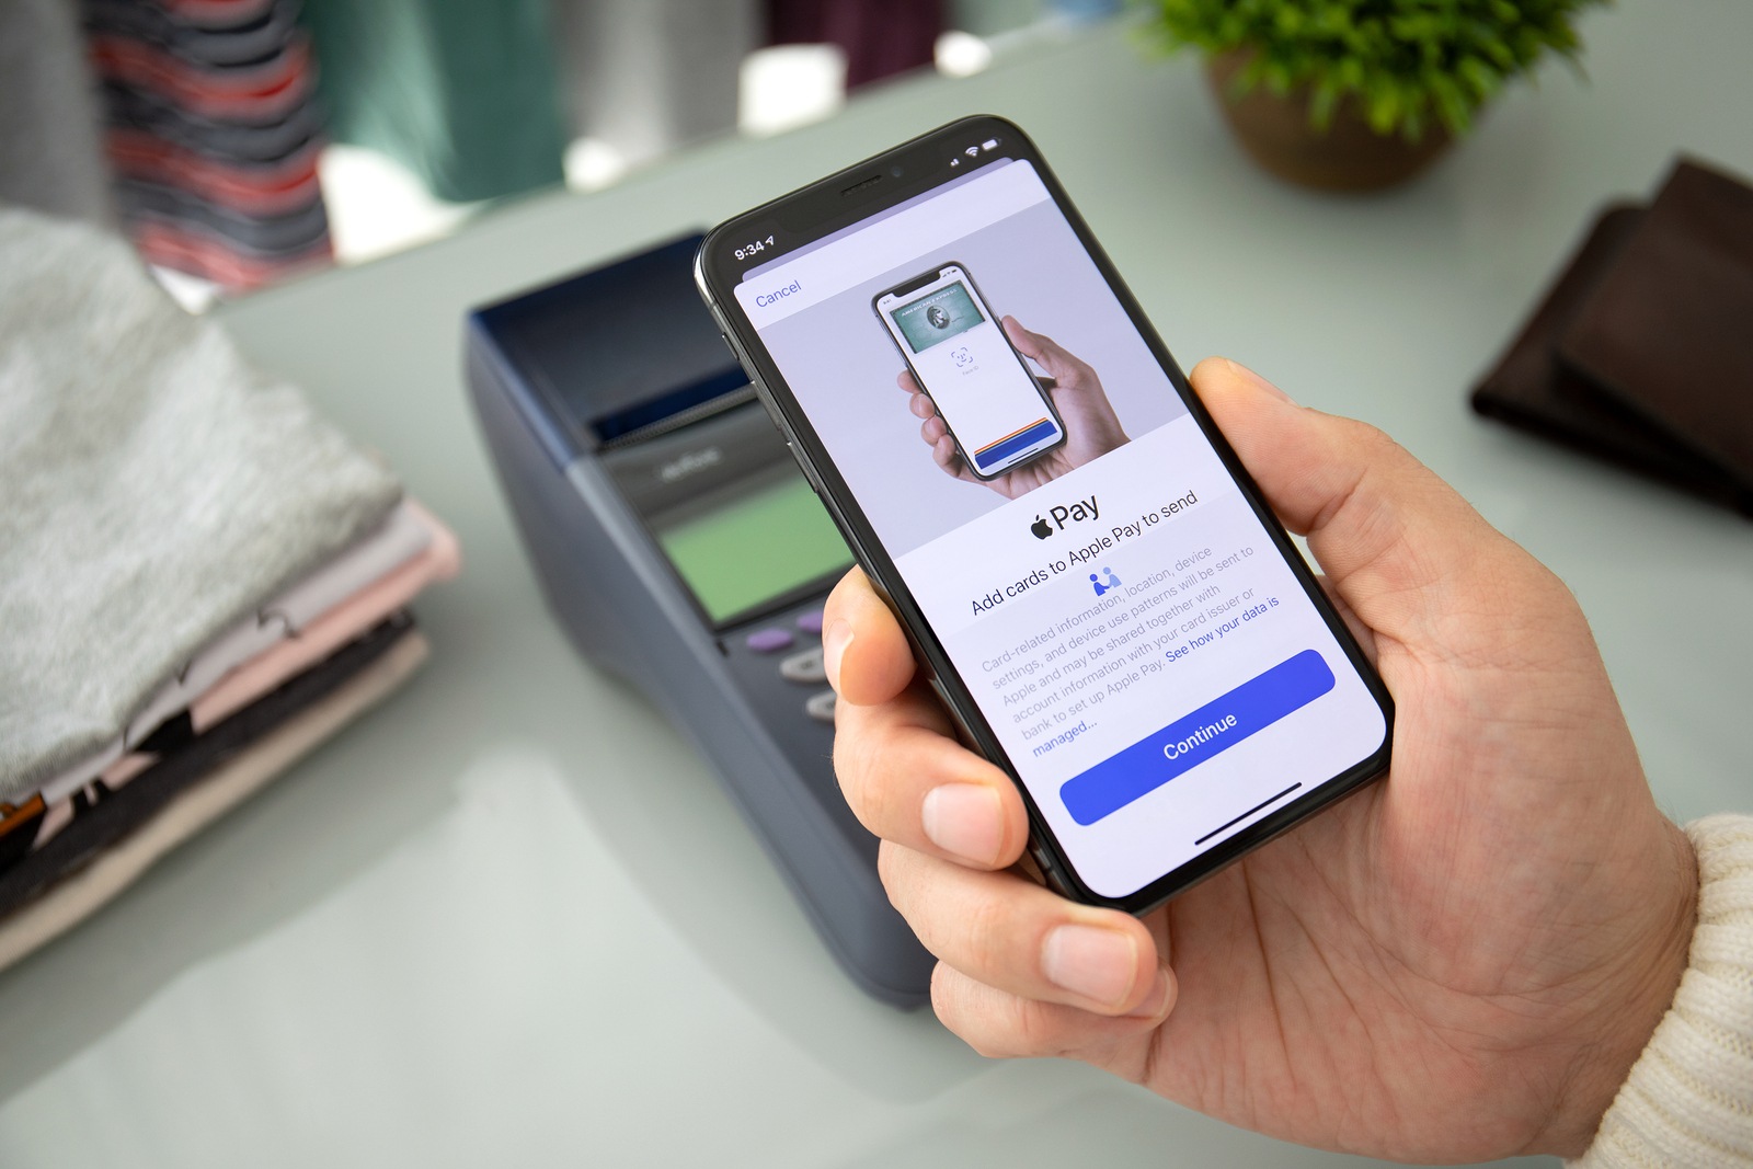
<svg viewBox="0 0 1753 1169"><path fill-rule="evenodd" d="M1753 188L1683 161L1600 214L1473 407L1753 515L1749 321Z"/></svg>

